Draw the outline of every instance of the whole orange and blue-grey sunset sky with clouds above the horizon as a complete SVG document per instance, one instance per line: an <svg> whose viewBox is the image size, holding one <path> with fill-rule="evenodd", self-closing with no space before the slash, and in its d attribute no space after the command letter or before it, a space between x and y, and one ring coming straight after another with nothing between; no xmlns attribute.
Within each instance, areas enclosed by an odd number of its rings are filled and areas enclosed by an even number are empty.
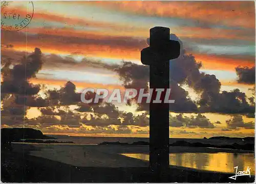
<svg viewBox="0 0 256 184"><path fill-rule="evenodd" d="M5 11L26 14L28 3L11 2ZM254 136L254 2L33 5L26 28L1 30L2 127L148 137L145 104L85 106L77 96L84 88L124 92L147 86L149 68L141 64L140 50L148 46L150 29L162 26L182 44L181 56L170 61L176 100L170 107L170 137ZM33 92L24 96L24 89Z"/></svg>

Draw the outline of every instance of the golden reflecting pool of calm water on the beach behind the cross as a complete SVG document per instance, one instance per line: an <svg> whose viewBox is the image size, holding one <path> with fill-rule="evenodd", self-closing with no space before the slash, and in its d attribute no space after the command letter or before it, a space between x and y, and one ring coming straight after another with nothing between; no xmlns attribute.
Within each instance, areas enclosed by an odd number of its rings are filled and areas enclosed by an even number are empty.
<svg viewBox="0 0 256 184"><path fill-rule="evenodd" d="M148 154L124 153L122 155L140 160L149 161ZM182 166L207 171L234 173L234 167L238 170L251 168L251 174L255 175L254 153L170 153L170 165Z"/></svg>

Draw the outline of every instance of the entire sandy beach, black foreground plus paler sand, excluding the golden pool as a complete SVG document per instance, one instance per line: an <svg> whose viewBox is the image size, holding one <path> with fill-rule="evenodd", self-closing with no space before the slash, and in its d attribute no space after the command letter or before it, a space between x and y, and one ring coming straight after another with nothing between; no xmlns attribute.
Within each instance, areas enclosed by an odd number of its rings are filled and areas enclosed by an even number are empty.
<svg viewBox="0 0 256 184"><path fill-rule="evenodd" d="M215 154L220 151L224 150L192 147L170 148L170 153L208 152ZM234 150L225 151L234 152ZM236 152L238 151L236 150ZM245 151L240 152L243 153ZM4 180L2 178L2 181L153 181L153 178L149 176L148 161L125 156L123 153L141 153L146 155L148 153L148 146L13 144L12 152L5 151L2 153L2 176L5 176ZM201 160L203 159L201 158ZM23 174L20 175L20 173L17 173L18 171ZM31 175L31 172L34 174ZM97 177L99 173L101 173L101 176ZM119 178L116 173L123 177ZM84 178L84 175L90 175L90 177ZM170 178L168 181L234 182L234 180L228 178L232 175L231 173L170 166ZM254 175L251 177L240 177L236 182L251 182L254 180L253 177Z"/></svg>

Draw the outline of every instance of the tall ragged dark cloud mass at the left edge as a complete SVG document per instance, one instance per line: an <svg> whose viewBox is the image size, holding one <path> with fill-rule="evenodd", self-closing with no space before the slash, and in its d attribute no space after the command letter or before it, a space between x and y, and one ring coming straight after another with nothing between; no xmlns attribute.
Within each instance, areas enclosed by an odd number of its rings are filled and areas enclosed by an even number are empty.
<svg viewBox="0 0 256 184"><path fill-rule="evenodd" d="M28 81L35 77L35 74L42 67L41 50L35 48L32 54L22 57L16 63L11 66L11 59L2 61L1 101L3 107L1 119L2 124L6 125L26 124L28 121L26 118L27 110L30 107L49 105L45 99L37 94L40 85L33 85ZM34 123L33 120L30 122Z"/></svg>

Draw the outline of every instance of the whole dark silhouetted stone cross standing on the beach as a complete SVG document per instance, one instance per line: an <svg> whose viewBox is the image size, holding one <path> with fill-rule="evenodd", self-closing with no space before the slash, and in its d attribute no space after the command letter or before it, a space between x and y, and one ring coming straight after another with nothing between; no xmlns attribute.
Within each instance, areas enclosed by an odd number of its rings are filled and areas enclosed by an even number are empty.
<svg viewBox="0 0 256 184"><path fill-rule="evenodd" d="M169 88L169 60L180 56L180 43L170 40L170 30L150 30L150 46L141 50L141 62L150 65L150 88ZM161 98L160 98L161 99ZM169 170L169 103L150 103L150 168L156 181L163 181ZM163 99L162 99L163 101ZM165 177L166 178L166 177Z"/></svg>

